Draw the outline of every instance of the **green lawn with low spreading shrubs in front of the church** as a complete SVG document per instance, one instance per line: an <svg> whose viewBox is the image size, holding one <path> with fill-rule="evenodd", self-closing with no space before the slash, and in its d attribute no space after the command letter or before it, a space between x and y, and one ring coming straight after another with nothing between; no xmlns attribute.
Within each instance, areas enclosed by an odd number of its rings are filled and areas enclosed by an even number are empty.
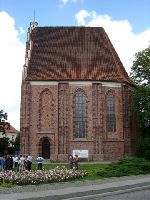
<svg viewBox="0 0 150 200"><path fill-rule="evenodd" d="M44 169L52 169L56 166L65 166L68 168L68 163L49 163L44 164ZM33 169L36 169L36 164L33 164ZM79 170L85 170L88 175L82 180L96 180L109 177L130 176L150 173L150 161L144 158L124 157L119 161L110 164L95 163L95 162L79 162Z"/></svg>

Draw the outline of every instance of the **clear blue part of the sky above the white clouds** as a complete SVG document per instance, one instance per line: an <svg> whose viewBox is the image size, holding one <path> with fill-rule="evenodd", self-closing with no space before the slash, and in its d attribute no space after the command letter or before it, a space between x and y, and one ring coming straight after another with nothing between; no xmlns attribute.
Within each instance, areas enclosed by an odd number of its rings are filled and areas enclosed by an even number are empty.
<svg viewBox="0 0 150 200"><path fill-rule="evenodd" d="M65 1L64 1L65 2ZM8 12L16 27L27 30L34 10L40 26L77 25L75 14L81 10L94 10L114 20L127 19L135 33L149 27L150 0L0 0L0 10Z"/></svg>

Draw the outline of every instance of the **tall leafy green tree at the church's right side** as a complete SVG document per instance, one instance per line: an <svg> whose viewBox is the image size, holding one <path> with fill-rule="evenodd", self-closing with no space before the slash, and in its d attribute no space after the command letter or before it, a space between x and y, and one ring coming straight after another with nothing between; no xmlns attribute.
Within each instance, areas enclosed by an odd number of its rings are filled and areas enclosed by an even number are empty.
<svg viewBox="0 0 150 200"><path fill-rule="evenodd" d="M139 114L141 133L150 136L150 47L135 54L130 76L137 84L133 108Z"/></svg>

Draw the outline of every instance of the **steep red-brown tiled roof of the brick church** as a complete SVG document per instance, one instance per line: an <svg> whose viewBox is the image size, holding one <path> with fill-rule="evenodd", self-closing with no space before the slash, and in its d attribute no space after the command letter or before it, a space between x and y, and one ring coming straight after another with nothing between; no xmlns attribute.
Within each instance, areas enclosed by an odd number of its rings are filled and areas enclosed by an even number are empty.
<svg viewBox="0 0 150 200"><path fill-rule="evenodd" d="M36 27L27 81L93 80L131 84L101 27Z"/></svg>

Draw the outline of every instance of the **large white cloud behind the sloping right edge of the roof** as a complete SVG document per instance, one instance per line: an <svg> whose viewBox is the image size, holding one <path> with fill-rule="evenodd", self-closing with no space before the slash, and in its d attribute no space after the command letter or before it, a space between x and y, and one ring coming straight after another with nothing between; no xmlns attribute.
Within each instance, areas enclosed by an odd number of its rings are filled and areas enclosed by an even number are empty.
<svg viewBox="0 0 150 200"><path fill-rule="evenodd" d="M127 20L113 20L108 15L98 15L95 11L87 10L80 10L75 15L75 19L78 25L105 29L128 73L135 53L147 48L150 44L150 28L135 34Z"/></svg>

